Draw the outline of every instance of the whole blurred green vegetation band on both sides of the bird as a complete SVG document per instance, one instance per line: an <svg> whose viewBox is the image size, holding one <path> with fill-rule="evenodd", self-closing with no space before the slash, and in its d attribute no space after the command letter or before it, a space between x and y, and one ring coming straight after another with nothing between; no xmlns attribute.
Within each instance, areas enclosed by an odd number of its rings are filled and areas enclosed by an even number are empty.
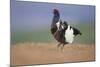
<svg viewBox="0 0 100 67"><path fill-rule="evenodd" d="M94 24L79 24L76 25L82 32L82 36L75 37L74 43L94 43L95 42L95 26ZM54 41L50 29L42 29L37 31L26 30L11 32L11 43L20 42L52 42Z"/></svg>

